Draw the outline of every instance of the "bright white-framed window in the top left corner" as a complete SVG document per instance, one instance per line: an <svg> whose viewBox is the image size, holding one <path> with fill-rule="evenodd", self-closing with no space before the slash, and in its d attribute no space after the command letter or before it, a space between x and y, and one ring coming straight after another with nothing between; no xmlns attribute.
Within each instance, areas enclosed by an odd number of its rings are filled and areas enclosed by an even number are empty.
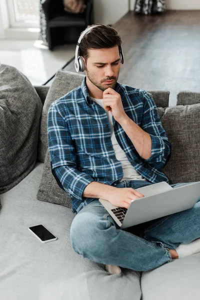
<svg viewBox="0 0 200 300"><path fill-rule="evenodd" d="M11 27L38 27L39 0L7 0Z"/></svg>

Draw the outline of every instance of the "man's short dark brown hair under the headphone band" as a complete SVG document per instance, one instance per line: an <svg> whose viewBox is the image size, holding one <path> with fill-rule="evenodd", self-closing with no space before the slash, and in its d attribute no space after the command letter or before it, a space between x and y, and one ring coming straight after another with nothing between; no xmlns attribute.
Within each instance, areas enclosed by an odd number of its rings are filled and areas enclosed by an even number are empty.
<svg viewBox="0 0 200 300"><path fill-rule="evenodd" d="M103 24L95 25L101 26L92 28L83 36L80 41L79 56L84 57L85 62L89 56L87 49L112 48L116 45L119 46L122 42L116 30L111 26L106 26ZM92 25L87 26L87 28L89 27L92 27Z"/></svg>

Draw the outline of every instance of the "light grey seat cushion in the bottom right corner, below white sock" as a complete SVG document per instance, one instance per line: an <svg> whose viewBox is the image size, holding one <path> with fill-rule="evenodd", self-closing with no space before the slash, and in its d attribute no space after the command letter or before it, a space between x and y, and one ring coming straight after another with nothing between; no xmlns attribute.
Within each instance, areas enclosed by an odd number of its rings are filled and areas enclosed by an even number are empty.
<svg viewBox="0 0 200 300"><path fill-rule="evenodd" d="M142 272L142 300L198 299L199 269L200 253L196 253Z"/></svg>

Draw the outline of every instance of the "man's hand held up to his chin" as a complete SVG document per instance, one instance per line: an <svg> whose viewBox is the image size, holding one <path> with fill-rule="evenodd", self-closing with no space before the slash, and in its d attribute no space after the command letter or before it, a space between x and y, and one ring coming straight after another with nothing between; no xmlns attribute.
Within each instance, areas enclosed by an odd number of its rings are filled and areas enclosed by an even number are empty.
<svg viewBox="0 0 200 300"><path fill-rule="evenodd" d="M113 88L108 87L103 91L103 104L107 111L110 111L114 119L119 123L127 117L121 102L121 96Z"/></svg>

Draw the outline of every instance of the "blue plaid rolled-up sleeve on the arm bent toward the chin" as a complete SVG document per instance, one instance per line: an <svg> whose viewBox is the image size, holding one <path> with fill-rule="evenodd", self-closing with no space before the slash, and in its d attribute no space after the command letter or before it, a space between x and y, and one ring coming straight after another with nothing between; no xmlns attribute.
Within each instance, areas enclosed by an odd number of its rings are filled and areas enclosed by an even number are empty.
<svg viewBox="0 0 200 300"><path fill-rule="evenodd" d="M144 92L143 102L141 128L146 131L151 138L151 156L145 159L145 161L161 169L169 160L171 145L162 127L155 102L146 91Z"/></svg>

